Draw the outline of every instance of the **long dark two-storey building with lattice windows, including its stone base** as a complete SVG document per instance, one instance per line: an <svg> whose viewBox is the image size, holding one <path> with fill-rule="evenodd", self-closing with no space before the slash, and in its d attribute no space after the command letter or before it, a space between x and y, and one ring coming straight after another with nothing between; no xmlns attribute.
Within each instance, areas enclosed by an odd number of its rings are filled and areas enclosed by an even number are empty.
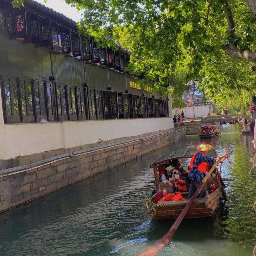
<svg viewBox="0 0 256 256"><path fill-rule="evenodd" d="M11 2L0 2L0 211L184 137L168 97L126 72L130 52L33 0Z"/></svg>

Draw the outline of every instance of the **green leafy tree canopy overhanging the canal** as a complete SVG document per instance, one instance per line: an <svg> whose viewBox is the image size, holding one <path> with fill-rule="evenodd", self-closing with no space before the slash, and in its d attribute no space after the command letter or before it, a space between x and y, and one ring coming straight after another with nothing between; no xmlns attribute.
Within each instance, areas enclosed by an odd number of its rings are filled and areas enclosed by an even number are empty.
<svg viewBox="0 0 256 256"><path fill-rule="evenodd" d="M78 28L86 36L114 47L121 32L129 35L129 70L141 86L166 94L166 78L177 82L172 87L178 91L196 78L215 99L255 90L256 0L65 2L84 10Z"/></svg>

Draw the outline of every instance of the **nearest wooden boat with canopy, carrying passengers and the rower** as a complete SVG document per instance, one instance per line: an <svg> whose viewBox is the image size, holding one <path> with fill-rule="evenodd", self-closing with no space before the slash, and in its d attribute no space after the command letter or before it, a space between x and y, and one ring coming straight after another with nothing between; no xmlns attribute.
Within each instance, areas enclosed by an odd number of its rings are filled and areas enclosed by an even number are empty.
<svg viewBox="0 0 256 256"><path fill-rule="evenodd" d="M156 190L160 186L161 189L164 188L165 184L161 182L161 177L159 175L160 172L164 170L165 164L170 164L170 162L174 159L178 159L179 162L183 165L184 169L188 167L190 159L193 154L196 152L196 148L183 148L180 150L175 150L169 152L168 154L162 156L155 162L151 164L150 167L154 169L154 177L155 177L155 186ZM207 156L217 157L217 152L215 149L209 150ZM214 177L211 178L214 180L214 184L216 186L216 190L210 193L209 185L207 185L207 192L205 198L196 198L196 200L191 205L190 209L186 213L184 218L202 218L207 216L212 216L216 208L218 207L218 202L220 196L225 194L225 190L221 184L223 181L218 180L218 169L216 168L214 173ZM211 180L211 182L212 182ZM208 181L207 181L208 183ZM224 184L223 184L224 185ZM155 190L155 191L156 191ZM180 194L186 198L188 196L188 192L180 192ZM146 198L146 210L150 214L151 218L155 219L176 219L189 200L185 201L177 201L177 202L156 202L155 198L157 193L154 193L151 198Z"/></svg>

